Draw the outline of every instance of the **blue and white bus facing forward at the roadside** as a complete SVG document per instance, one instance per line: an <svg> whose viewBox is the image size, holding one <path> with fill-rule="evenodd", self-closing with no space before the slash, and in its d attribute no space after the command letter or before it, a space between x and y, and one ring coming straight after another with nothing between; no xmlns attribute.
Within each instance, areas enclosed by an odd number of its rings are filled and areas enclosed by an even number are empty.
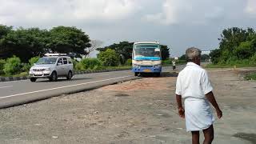
<svg viewBox="0 0 256 144"><path fill-rule="evenodd" d="M135 76L162 73L161 46L159 42L135 42L133 48L133 72Z"/></svg>

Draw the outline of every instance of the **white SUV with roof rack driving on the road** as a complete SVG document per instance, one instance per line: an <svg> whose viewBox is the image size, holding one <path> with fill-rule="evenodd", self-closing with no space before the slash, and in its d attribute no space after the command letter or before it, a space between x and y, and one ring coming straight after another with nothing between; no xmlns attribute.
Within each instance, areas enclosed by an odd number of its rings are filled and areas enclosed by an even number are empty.
<svg viewBox="0 0 256 144"><path fill-rule="evenodd" d="M30 81L35 82L37 78L49 78L57 81L58 77L73 77L73 63L66 54L45 54L38 62L30 68Z"/></svg>

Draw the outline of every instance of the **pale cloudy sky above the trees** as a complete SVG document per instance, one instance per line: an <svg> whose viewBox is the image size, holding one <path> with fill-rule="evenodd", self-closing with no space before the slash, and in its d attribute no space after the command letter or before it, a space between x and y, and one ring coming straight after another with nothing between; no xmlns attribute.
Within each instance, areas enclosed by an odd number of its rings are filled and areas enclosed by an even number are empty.
<svg viewBox="0 0 256 144"><path fill-rule="evenodd" d="M256 0L0 0L0 24L76 26L109 46L160 42L170 55L218 48L222 30L256 28Z"/></svg>

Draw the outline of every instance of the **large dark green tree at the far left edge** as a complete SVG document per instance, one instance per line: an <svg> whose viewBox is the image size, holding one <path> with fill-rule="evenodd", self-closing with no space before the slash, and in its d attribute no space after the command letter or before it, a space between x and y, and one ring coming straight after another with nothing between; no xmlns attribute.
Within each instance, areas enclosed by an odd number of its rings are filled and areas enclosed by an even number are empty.
<svg viewBox="0 0 256 144"><path fill-rule="evenodd" d="M10 58L12 55L21 58L22 62L34 56L45 53L47 30L39 30L38 28L18 28L12 30L0 41L0 55L2 58Z"/></svg>

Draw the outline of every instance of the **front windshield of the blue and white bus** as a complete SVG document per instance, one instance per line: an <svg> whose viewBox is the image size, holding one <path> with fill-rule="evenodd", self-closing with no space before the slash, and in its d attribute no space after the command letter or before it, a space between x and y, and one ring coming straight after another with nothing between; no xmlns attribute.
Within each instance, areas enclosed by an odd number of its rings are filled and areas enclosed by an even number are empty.
<svg viewBox="0 0 256 144"><path fill-rule="evenodd" d="M160 57L160 46L159 45L135 45L134 56Z"/></svg>

